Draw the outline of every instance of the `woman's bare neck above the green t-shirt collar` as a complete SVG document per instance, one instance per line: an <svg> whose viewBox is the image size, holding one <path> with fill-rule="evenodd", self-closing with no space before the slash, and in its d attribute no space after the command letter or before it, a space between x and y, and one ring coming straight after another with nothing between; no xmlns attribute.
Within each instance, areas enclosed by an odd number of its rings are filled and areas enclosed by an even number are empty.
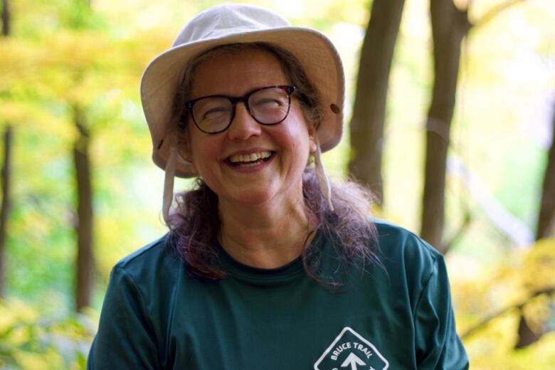
<svg viewBox="0 0 555 370"><path fill-rule="evenodd" d="M299 257L313 238L302 196L255 206L220 201L218 208L221 245L245 265L278 268Z"/></svg>

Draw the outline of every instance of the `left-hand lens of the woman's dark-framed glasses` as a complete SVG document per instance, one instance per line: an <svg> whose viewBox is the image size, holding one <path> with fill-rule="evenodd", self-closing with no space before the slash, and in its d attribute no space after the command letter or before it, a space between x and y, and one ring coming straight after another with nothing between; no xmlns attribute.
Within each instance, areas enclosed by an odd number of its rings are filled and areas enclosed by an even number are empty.
<svg viewBox="0 0 555 370"><path fill-rule="evenodd" d="M204 132L220 132L231 122L233 105L225 97L205 97L193 107L196 125Z"/></svg>

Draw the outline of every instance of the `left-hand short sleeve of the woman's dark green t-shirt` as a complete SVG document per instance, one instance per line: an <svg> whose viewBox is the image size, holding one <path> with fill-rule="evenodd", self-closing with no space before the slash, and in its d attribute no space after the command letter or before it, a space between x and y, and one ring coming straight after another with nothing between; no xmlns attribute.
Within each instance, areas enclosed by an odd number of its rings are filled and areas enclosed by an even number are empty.
<svg viewBox="0 0 555 370"><path fill-rule="evenodd" d="M112 270L87 369L159 369L143 296L124 268Z"/></svg>

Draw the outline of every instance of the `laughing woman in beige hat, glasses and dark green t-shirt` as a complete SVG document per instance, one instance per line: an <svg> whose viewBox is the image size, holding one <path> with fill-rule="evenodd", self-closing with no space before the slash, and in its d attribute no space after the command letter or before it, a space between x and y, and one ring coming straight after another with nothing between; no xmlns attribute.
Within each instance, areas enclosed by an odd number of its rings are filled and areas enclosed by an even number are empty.
<svg viewBox="0 0 555 370"><path fill-rule="evenodd" d="M329 184L342 64L255 6L199 14L144 73L168 236L117 263L90 369L466 369L441 255ZM196 176L179 194L173 179Z"/></svg>

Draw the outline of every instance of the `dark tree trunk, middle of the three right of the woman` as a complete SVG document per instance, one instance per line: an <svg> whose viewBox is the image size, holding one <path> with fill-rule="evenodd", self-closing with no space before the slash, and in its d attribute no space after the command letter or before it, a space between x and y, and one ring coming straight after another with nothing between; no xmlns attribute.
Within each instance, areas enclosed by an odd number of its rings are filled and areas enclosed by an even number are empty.
<svg viewBox="0 0 555 370"><path fill-rule="evenodd" d="M445 169L459 73L460 46L470 29L467 12L452 0L430 0L434 82L426 124L421 237L442 248Z"/></svg>

